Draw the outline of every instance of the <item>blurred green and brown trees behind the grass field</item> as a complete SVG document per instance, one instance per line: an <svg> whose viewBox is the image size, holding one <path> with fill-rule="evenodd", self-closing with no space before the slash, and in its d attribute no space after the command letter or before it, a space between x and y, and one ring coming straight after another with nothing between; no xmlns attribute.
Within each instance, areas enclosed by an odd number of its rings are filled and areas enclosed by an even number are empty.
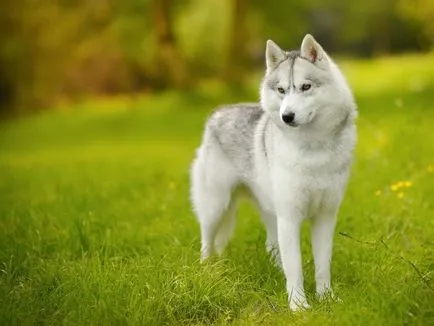
<svg viewBox="0 0 434 326"><path fill-rule="evenodd" d="M429 51L434 1L2 1L1 113L210 78L243 85L266 39L295 48L307 32L344 56Z"/></svg>

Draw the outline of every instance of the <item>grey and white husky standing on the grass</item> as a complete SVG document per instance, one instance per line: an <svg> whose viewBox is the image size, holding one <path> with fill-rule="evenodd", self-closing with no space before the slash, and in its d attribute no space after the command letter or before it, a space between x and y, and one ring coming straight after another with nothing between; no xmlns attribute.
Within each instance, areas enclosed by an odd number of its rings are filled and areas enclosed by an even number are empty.
<svg viewBox="0 0 434 326"><path fill-rule="evenodd" d="M260 103L223 106L208 119L191 166L191 200L203 261L223 251L241 195L253 199L296 311L309 308L300 252L305 220L317 295L333 295L333 234L357 139L357 107L338 66L310 34L294 51L268 40L265 57Z"/></svg>

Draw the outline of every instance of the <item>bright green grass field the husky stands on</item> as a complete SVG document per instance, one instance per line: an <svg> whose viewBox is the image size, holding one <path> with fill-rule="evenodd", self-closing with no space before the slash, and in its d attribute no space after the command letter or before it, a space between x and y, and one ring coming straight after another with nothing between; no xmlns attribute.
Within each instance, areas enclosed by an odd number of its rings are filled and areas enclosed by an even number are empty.
<svg viewBox="0 0 434 326"><path fill-rule="evenodd" d="M198 262L188 168L214 105L195 92L85 101L0 125L1 325L433 325L434 56L342 64L360 116L339 213L333 282L342 302L291 313L265 232L242 205L222 258Z"/></svg>

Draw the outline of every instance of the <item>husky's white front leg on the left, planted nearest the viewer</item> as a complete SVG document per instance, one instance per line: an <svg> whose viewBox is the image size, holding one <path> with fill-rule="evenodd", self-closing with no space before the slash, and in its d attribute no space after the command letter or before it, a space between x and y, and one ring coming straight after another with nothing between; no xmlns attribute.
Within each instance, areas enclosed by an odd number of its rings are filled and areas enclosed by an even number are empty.
<svg viewBox="0 0 434 326"><path fill-rule="evenodd" d="M300 227L302 217L291 212L278 216L278 242L286 277L286 288L291 310L309 308L304 293L303 270L300 251Z"/></svg>

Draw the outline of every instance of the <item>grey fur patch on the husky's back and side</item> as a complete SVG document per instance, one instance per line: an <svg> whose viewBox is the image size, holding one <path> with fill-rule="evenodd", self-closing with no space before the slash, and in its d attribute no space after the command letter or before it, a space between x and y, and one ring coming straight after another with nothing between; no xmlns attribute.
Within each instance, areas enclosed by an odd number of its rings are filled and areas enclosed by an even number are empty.
<svg viewBox="0 0 434 326"><path fill-rule="evenodd" d="M220 107L208 120L210 136L241 174L253 169L255 128L263 114L259 104L235 104Z"/></svg>

